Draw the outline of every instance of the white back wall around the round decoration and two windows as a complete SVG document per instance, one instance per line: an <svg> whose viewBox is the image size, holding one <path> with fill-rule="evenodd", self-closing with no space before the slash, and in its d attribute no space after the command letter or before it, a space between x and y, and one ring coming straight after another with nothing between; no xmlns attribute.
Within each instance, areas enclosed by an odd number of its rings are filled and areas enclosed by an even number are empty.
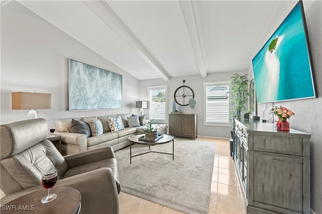
<svg viewBox="0 0 322 214"><path fill-rule="evenodd" d="M203 125L203 83L214 81L230 81L230 77L234 73L245 74L247 71L234 71L234 72L222 72L208 74L207 77L201 77L200 75L172 77L170 81L163 79L149 79L140 81L140 97L143 100L148 100L147 86L153 85L168 85L168 113L172 112L172 103L174 100L175 90L183 85L183 80L186 80L185 85L188 85L194 90L196 108L192 112L189 106L183 106L183 113L197 114L197 135L207 137L219 137L219 138L231 138L230 131L231 126L205 126ZM178 110L178 104L177 104Z"/></svg>

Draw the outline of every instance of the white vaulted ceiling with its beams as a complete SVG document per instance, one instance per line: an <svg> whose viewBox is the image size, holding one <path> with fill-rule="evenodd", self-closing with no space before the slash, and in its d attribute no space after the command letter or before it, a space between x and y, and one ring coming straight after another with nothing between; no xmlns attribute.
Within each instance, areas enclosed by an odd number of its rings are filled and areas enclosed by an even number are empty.
<svg viewBox="0 0 322 214"><path fill-rule="evenodd" d="M18 2L136 78L166 80L247 70L281 3Z"/></svg>

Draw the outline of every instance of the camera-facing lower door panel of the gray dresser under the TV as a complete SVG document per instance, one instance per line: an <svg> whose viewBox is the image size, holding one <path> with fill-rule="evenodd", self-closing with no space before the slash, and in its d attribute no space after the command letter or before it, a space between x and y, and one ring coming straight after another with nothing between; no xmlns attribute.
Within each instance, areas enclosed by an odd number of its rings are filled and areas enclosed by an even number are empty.
<svg viewBox="0 0 322 214"><path fill-rule="evenodd" d="M302 212L303 159L254 153L254 205L276 212Z"/></svg>

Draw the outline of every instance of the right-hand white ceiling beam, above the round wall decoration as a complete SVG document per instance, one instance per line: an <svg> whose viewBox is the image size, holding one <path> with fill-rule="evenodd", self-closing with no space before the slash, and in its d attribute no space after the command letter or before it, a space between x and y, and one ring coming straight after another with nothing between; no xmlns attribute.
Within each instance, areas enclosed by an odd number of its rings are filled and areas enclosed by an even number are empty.
<svg viewBox="0 0 322 214"><path fill-rule="evenodd" d="M207 77L205 61L200 43L199 31L195 17L195 11L192 1L179 1L183 16L186 21L186 26L189 31L190 40L195 50L196 61L199 67L199 73L202 77Z"/></svg>

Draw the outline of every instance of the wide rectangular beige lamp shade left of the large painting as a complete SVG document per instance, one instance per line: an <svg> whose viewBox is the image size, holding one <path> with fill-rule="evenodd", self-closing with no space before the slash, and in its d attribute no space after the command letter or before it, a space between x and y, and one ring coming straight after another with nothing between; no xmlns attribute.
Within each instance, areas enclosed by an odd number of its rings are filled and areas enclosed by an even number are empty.
<svg viewBox="0 0 322 214"><path fill-rule="evenodd" d="M33 92L12 92L12 109L51 109L51 94Z"/></svg>

